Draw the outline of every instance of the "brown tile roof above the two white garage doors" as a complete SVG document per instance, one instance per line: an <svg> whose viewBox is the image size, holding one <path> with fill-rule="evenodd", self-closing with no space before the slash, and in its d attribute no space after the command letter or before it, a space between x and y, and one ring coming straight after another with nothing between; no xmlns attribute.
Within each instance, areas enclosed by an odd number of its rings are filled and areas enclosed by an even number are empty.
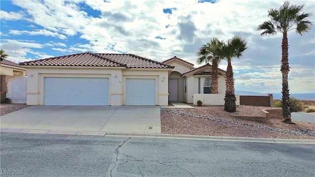
<svg viewBox="0 0 315 177"><path fill-rule="evenodd" d="M112 66L127 68L174 68L173 66L132 54L94 54L90 52L21 62L37 66Z"/></svg>

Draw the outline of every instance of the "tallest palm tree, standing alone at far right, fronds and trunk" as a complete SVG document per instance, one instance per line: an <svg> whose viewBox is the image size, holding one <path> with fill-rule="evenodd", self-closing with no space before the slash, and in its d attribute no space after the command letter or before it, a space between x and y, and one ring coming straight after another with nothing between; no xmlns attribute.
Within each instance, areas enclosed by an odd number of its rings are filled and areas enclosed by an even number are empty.
<svg viewBox="0 0 315 177"><path fill-rule="evenodd" d="M290 99L288 86L289 73L289 59L288 59L288 41L287 32L295 29L297 33L303 35L310 31L312 22L308 21L311 13L302 12L304 5L290 5L289 1L284 1L284 4L279 9L270 9L268 17L270 21L263 22L257 30L263 30L260 35L275 35L277 32L283 34L282 38L282 58L281 58L281 72L282 72L282 112L283 122L291 122L290 113Z"/></svg>

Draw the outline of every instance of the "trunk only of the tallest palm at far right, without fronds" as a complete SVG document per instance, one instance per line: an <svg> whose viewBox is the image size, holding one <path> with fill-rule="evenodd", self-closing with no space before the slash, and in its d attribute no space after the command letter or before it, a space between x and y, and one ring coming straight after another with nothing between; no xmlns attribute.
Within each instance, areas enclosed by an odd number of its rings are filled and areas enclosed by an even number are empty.
<svg viewBox="0 0 315 177"><path fill-rule="evenodd" d="M289 99L289 85L288 85L288 74L290 71L289 59L288 59L288 42L287 33L283 33L282 38L282 59L281 59L281 72L282 72L282 113L284 123L291 122L291 112L290 112L290 99Z"/></svg>

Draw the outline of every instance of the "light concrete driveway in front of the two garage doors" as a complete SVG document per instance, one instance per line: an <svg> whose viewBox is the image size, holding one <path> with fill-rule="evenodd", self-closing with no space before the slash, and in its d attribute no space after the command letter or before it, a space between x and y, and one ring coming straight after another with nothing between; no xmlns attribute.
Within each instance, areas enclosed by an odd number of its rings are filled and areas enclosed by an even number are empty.
<svg viewBox="0 0 315 177"><path fill-rule="evenodd" d="M1 132L161 133L159 106L32 106L1 116Z"/></svg>

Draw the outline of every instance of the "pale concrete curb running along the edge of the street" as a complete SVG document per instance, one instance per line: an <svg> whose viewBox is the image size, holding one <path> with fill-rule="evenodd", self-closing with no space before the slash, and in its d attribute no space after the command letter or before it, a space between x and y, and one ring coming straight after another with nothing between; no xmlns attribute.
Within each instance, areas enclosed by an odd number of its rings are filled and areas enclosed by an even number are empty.
<svg viewBox="0 0 315 177"><path fill-rule="evenodd" d="M1 133L34 134L31 129L10 129L1 128ZM89 132L89 131L57 131L49 130L47 133L37 130L37 134L56 135L78 135L78 136L105 136L105 137L131 137L131 138L160 138L160 139L181 139L181 140L203 140L203 141L229 141L248 143L277 143L277 144L311 144L315 145L315 140L292 140L292 139L272 139L272 138L249 138L249 137L221 137L221 136L199 136L199 135L173 135L161 133L120 133L120 132ZM103 135L104 134L104 135Z"/></svg>

